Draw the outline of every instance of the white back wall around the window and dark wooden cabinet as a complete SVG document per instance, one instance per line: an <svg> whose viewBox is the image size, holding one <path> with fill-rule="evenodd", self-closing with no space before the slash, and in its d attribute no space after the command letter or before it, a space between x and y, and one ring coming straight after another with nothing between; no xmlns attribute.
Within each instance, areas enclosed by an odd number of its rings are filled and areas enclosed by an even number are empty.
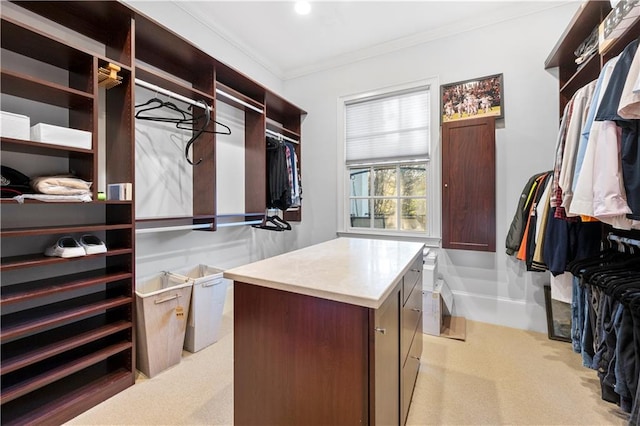
<svg viewBox="0 0 640 426"><path fill-rule="evenodd" d="M544 61L577 7L566 4L287 81L285 96L308 111L302 161L305 225L313 226L304 232L316 240L337 227L339 97L432 76L442 84L503 73L505 119L496 131L497 252L440 249L439 271L455 294L455 315L546 331L542 285L548 276L526 272L504 254L504 241L525 182L552 168L558 81L544 70Z"/></svg>

